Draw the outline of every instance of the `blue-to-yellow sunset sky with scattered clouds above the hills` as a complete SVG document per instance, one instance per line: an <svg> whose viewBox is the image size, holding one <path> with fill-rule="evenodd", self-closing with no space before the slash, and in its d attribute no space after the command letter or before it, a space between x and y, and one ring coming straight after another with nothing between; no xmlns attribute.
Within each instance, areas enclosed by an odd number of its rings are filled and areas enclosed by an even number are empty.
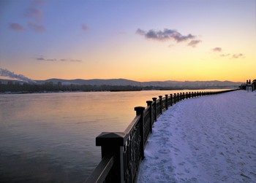
<svg viewBox="0 0 256 183"><path fill-rule="evenodd" d="M0 69L244 82L256 79L255 9L255 0L0 0Z"/></svg>

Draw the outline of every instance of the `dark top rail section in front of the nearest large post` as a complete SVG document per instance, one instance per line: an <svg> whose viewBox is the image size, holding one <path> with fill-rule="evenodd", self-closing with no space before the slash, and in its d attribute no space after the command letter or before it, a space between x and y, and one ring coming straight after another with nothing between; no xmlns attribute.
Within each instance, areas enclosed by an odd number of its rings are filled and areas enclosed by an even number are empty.
<svg viewBox="0 0 256 183"><path fill-rule="evenodd" d="M105 156L99 162L99 165L94 169L93 173L86 179L85 183L102 183L108 176L113 164L114 156Z"/></svg>

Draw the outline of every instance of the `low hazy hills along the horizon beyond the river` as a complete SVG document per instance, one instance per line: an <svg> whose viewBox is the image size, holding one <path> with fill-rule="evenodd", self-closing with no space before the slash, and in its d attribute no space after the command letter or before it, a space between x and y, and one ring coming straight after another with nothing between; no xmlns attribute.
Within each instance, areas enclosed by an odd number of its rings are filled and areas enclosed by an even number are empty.
<svg viewBox="0 0 256 183"><path fill-rule="evenodd" d="M0 79L2 84L7 84L12 79ZM25 82L19 80L12 80L13 83L19 82L23 84ZM152 82L137 82L129 79L46 79L35 80L36 85L43 85L45 83L52 82L53 85L57 85L61 82L61 85L110 85L110 86L135 86L135 87L169 87L172 88L219 88L219 87L234 87L240 86L242 82L230 82L230 81L152 81ZM31 83L32 84L32 83ZM33 83L34 84L34 83Z"/></svg>

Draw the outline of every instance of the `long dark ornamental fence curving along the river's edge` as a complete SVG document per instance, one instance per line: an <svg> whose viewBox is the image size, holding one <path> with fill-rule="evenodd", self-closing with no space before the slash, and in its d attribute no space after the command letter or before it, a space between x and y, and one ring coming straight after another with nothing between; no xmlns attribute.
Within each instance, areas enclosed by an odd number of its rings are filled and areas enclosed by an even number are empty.
<svg viewBox="0 0 256 183"><path fill-rule="evenodd" d="M152 98L153 101L146 101L146 107L135 107L136 116L124 132L102 132L96 137L96 145L101 147L102 160L86 183L137 182L148 137L162 112L178 101L230 91L233 90L174 93Z"/></svg>

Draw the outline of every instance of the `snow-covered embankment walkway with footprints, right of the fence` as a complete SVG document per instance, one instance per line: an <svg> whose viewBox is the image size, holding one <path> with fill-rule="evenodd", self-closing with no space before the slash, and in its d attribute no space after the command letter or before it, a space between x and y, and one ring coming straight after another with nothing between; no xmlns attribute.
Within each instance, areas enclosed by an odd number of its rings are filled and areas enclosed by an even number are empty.
<svg viewBox="0 0 256 183"><path fill-rule="evenodd" d="M256 182L256 93L192 98L164 112L138 182Z"/></svg>

